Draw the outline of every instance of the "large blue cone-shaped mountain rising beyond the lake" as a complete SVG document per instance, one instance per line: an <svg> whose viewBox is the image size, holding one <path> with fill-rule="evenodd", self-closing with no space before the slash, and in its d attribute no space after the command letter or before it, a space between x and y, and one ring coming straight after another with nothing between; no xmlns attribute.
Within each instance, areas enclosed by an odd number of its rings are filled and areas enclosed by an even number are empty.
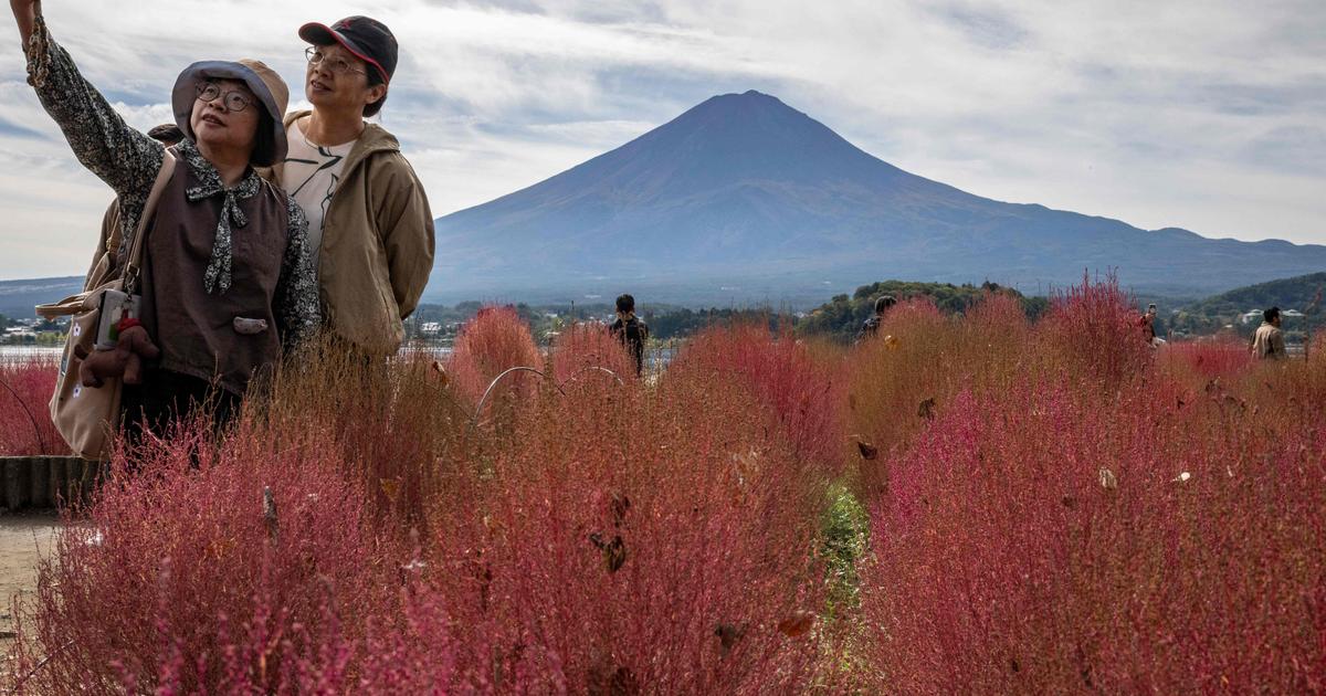
<svg viewBox="0 0 1326 696"><path fill-rule="evenodd" d="M1326 268L1321 245L1146 231L976 196L894 167L758 91L713 97L436 229L434 301L648 288L671 301L819 302L879 277L1037 293L1114 268L1139 292L1200 297Z"/></svg>

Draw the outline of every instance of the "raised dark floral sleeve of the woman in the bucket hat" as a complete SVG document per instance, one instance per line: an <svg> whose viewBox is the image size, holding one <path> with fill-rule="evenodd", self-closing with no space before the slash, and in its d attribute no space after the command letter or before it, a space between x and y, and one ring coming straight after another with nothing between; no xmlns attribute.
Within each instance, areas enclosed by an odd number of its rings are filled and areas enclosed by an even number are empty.
<svg viewBox="0 0 1326 696"><path fill-rule="evenodd" d="M56 121L78 162L119 196L123 229L138 225L164 147L134 130L91 86L38 15L28 41L28 84Z"/></svg>

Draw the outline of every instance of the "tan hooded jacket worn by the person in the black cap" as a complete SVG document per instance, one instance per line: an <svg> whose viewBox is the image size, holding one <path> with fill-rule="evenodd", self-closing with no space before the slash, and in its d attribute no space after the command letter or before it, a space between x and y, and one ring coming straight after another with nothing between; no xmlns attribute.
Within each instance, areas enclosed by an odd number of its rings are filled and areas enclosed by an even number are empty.
<svg viewBox="0 0 1326 696"><path fill-rule="evenodd" d="M309 111L285 117L285 126ZM280 186L284 164L261 172ZM419 305L432 272L428 196L396 138L366 123L346 156L322 224L318 294L330 330L370 353L404 339L402 319Z"/></svg>

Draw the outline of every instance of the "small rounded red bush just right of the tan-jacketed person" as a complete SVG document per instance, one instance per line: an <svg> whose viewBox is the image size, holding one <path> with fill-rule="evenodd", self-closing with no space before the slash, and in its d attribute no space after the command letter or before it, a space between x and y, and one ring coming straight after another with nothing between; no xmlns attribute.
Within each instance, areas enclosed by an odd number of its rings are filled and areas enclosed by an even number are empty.
<svg viewBox="0 0 1326 696"><path fill-rule="evenodd" d="M477 403L488 384L511 367L544 366L529 326L511 306L487 306L469 319L456 338L448 373L457 391ZM532 384L520 378L517 383Z"/></svg>

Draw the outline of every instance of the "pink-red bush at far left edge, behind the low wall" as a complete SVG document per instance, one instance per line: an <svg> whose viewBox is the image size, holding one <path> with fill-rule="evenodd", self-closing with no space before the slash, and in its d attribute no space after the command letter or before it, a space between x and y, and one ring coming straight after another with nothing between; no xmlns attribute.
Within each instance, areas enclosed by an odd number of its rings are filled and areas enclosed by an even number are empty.
<svg viewBox="0 0 1326 696"><path fill-rule="evenodd" d="M54 390L54 361L0 361L0 456L69 453L46 406Z"/></svg>

